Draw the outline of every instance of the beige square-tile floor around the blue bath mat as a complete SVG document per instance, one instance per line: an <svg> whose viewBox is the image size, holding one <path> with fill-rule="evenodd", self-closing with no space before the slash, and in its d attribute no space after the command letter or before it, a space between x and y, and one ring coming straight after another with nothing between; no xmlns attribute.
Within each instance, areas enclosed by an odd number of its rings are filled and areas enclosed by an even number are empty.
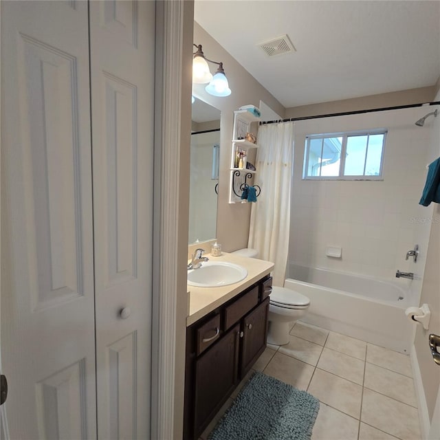
<svg viewBox="0 0 440 440"><path fill-rule="evenodd" d="M268 345L252 372L263 371L320 400L312 440L419 440L410 360L367 342L303 322L290 342ZM201 435L206 440L239 389Z"/></svg>

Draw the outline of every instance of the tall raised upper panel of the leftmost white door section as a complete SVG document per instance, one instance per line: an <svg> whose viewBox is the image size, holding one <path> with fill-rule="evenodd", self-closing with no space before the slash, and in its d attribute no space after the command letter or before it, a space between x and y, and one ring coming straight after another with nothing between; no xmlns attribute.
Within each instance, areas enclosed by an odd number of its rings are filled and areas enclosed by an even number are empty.
<svg viewBox="0 0 440 440"><path fill-rule="evenodd" d="M21 139L22 166L29 176L23 212L32 223L33 309L41 310L83 294L82 231L75 215L81 193L78 66L74 56L29 36L20 35L18 43L21 126L27 134Z"/></svg>

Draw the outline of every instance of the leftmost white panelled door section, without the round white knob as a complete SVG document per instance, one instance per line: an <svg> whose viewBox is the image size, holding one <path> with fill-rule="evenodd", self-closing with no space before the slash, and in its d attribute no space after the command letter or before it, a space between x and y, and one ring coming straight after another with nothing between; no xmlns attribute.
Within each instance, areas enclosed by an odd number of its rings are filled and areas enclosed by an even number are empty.
<svg viewBox="0 0 440 440"><path fill-rule="evenodd" d="M11 439L96 437L87 29L83 1L1 1L1 362Z"/></svg>

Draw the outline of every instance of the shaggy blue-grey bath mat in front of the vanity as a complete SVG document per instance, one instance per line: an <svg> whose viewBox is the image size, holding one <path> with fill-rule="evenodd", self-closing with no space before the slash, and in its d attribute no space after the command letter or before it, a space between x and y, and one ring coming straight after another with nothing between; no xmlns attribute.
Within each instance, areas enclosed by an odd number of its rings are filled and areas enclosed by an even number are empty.
<svg viewBox="0 0 440 440"><path fill-rule="evenodd" d="M256 372L212 430L209 440L309 440L316 397Z"/></svg>

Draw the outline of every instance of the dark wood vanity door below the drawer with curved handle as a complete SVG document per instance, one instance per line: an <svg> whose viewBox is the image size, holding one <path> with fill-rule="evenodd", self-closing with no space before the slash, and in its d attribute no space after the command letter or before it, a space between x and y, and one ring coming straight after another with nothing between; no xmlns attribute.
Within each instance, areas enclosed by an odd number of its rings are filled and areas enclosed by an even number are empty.
<svg viewBox="0 0 440 440"><path fill-rule="evenodd" d="M238 379L239 325L214 344L195 366L194 427L197 438L234 390Z"/></svg>

